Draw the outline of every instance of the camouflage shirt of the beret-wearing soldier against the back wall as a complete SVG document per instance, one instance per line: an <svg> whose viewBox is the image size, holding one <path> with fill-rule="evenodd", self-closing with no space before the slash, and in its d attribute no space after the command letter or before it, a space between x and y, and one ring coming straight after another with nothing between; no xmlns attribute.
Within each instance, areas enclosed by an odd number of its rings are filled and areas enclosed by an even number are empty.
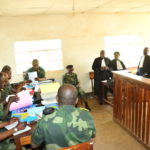
<svg viewBox="0 0 150 150"><path fill-rule="evenodd" d="M63 76L63 83L77 86L79 83L77 74L74 72L72 72L71 74L65 73L65 75Z"/></svg>

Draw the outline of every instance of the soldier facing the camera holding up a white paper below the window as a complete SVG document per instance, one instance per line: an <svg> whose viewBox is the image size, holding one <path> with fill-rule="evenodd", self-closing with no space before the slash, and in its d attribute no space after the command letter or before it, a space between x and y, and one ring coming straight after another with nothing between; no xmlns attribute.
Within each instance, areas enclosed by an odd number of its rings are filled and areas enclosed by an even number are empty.
<svg viewBox="0 0 150 150"><path fill-rule="evenodd" d="M25 80L29 80L28 72L37 72L37 76L38 76L36 78L37 81L46 80L45 70L39 66L39 61L37 59L34 59L32 61L32 67L27 70L27 74L25 75Z"/></svg>

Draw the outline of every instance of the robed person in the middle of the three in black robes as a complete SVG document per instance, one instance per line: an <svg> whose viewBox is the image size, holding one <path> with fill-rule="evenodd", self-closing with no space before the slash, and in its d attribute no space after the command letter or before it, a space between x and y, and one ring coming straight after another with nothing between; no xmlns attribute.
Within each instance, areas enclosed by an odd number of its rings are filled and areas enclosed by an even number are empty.
<svg viewBox="0 0 150 150"><path fill-rule="evenodd" d="M125 70L126 69L126 67L125 67L125 65L124 65L124 63L123 63L123 61L121 61L120 59L119 59L119 56L120 56L120 53L119 52L114 52L114 57L115 57L115 59L113 59L112 61L111 61L111 70L112 71L117 71L117 70Z"/></svg>

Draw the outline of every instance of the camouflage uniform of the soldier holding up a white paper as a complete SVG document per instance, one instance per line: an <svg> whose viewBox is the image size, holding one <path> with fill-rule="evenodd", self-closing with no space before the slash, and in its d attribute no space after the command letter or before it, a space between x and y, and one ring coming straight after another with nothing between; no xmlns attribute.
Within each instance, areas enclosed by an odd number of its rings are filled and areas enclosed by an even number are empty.
<svg viewBox="0 0 150 150"><path fill-rule="evenodd" d="M29 68L27 70L27 74L25 76L25 80L29 80L29 77L28 77L28 72L37 72L37 76L38 78L45 78L45 70L42 68L42 67L39 67L38 70L34 70L33 67Z"/></svg>

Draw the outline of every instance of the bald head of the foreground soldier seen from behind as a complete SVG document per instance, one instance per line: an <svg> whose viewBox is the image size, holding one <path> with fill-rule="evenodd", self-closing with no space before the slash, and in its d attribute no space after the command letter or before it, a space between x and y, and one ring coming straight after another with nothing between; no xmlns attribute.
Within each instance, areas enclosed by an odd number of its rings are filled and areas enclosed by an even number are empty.
<svg viewBox="0 0 150 150"><path fill-rule="evenodd" d="M58 103L61 105L75 105L77 96L77 89L73 85L64 84L57 93Z"/></svg>

